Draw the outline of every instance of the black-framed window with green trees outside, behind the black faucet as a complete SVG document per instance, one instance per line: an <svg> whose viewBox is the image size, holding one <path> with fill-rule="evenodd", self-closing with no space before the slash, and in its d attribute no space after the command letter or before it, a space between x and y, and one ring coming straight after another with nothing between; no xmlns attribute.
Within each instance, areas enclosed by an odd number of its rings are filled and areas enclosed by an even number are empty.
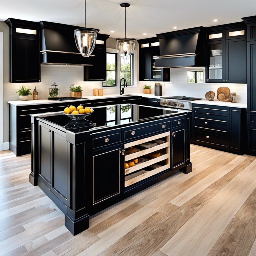
<svg viewBox="0 0 256 256"><path fill-rule="evenodd" d="M106 81L103 82L103 87L119 86L122 78L125 78L127 85L134 85L134 54L129 59L121 58L115 52L107 52L106 65ZM136 76L136 73L135 73ZM122 83L123 84L123 83Z"/></svg>

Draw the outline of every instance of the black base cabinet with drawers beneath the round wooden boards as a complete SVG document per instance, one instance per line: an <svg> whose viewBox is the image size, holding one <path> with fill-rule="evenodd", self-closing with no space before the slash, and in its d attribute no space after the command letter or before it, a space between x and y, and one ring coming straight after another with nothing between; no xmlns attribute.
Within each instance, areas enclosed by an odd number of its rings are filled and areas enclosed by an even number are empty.
<svg viewBox="0 0 256 256"><path fill-rule="evenodd" d="M246 109L193 104L194 144L243 154Z"/></svg>

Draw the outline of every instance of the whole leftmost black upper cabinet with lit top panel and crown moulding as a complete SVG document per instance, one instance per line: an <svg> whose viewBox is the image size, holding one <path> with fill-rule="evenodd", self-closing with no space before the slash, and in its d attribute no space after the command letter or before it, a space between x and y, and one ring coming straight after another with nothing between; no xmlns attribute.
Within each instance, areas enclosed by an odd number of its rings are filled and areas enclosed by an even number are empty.
<svg viewBox="0 0 256 256"><path fill-rule="evenodd" d="M40 82L39 24L10 18L5 22L10 27L10 82Z"/></svg>

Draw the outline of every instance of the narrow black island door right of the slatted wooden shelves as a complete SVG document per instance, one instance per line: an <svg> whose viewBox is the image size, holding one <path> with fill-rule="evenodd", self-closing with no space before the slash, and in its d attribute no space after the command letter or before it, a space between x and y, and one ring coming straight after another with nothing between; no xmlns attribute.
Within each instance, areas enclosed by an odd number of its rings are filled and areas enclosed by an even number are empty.
<svg viewBox="0 0 256 256"><path fill-rule="evenodd" d="M175 168L185 163L185 129L172 133L172 167Z"/></svg>

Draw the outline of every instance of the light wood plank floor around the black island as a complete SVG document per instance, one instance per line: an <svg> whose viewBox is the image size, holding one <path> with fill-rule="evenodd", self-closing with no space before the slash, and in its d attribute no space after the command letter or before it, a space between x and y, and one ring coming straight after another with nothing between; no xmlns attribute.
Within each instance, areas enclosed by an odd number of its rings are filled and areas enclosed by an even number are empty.
<svg viewBox="0 0 256 256"><path fill-rule="evenodd" d="M255 256L256 157L191 145L178 173L91 217L77 236L29 183L30 155L0 152L0 255Z"/></svg>

